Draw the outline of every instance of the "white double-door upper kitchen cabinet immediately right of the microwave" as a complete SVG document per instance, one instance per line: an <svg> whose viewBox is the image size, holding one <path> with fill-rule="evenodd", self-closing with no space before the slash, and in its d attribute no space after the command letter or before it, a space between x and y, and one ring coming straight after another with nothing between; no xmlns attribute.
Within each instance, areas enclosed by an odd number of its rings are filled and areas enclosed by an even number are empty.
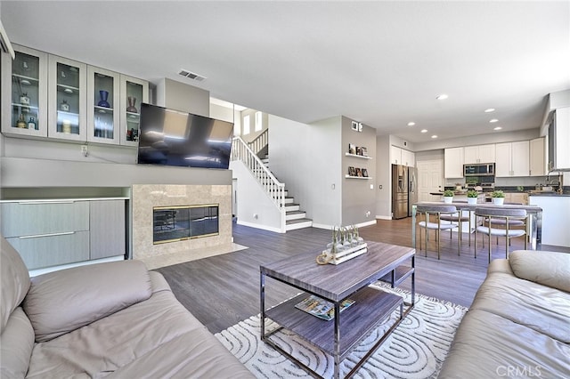
<svg viewBox="0 0 570 379"><path fill-rule="evenodd" d="M529 141L497 143L495 155L496 177L529 175Z"/></svg>

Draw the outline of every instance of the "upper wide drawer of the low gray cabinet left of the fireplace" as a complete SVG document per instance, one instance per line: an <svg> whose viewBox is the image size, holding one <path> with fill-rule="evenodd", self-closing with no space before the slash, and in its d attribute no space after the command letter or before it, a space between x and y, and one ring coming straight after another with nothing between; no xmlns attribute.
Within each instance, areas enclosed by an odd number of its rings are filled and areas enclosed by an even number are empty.
<svg viewBox="0 0 570 379"><path fill-rule="evenodd" d="M86 201L2 204L5 238L89 230Z"/></svg>

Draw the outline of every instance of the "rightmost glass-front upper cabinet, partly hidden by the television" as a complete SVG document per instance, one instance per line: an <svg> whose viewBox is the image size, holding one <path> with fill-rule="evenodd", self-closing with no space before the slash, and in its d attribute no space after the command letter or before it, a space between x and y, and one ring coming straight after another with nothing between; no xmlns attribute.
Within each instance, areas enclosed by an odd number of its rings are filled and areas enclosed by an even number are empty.
<svg viewBox="0 0 570 379"><path fill-rule="evenodd" d="M141 103L149 102L149 82L126 75L121 75L120 80L120 143L136 146L139 141Z"/></svg>

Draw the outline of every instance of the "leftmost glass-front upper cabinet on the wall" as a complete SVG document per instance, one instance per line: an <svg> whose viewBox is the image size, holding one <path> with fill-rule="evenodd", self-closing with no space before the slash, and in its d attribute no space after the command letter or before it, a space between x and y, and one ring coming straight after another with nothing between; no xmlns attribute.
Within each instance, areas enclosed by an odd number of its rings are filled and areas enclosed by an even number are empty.
<svg viewBox="0 0 570 379"><path fill-rule="evenodd" d="M14 60L2 54L2 133L47 137L47 54L13 47Z"/></svg>

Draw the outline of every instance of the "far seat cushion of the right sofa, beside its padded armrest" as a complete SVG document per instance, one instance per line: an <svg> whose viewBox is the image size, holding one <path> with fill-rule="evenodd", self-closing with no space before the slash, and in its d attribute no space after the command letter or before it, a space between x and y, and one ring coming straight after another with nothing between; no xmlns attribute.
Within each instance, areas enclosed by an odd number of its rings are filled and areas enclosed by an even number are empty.
<svg viewBox="0 0 570 379"><path fill-rule="evenodd" d="M570 294L556 288L511 274L490 273L479 287L471 310L485 310L570 343Z"/></svg>

